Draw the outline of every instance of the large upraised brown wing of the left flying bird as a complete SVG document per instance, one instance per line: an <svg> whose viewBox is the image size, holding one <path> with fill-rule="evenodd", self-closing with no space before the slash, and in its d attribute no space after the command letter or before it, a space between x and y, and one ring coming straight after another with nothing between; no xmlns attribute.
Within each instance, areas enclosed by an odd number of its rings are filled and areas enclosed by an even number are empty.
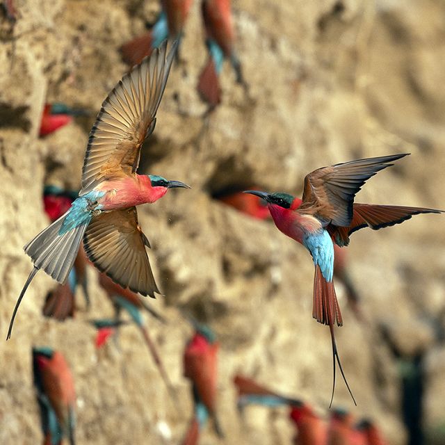
<svg viewBox="0 0 445 445"><path fill-rule="evenodd" d="M79 195L104 179L131 175L138 168L140 147L154 130L176 49L177 42L167 55L167 42L163 42L125 74L104 100L90 131Z"/></svg>

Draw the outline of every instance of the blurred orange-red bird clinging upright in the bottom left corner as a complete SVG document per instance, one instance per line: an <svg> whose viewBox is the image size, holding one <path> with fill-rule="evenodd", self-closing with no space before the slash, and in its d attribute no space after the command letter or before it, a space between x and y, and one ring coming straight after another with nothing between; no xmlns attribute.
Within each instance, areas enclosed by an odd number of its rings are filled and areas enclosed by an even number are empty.
<svg viewBox="0 0 445 445"><path fill-rule="evenodd" d="M34 385L42 419L44 444L60 444L67 437L74 445L76 394L63 355L51 348L33 348Z"/></svg>

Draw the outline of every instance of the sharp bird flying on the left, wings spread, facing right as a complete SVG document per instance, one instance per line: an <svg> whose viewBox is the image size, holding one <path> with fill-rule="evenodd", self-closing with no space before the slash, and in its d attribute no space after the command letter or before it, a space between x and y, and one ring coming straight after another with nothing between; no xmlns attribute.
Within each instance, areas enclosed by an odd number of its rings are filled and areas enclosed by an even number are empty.
<svg viewBox="0 0 445 445"><path fill-rule="evenodd" d="M90 131L79 197L67 213L24 247L34 268L15 305L7 338L35 273L42 268L65 283L82 238L88 258L115 282L144 296L154 298L159 293L136 206L159 200L169 188L189 186L156 175L138 175L136 170L143 142L154 131L176 49L177 42L167 54L164 42L125 74L102 104Z"/></svg>

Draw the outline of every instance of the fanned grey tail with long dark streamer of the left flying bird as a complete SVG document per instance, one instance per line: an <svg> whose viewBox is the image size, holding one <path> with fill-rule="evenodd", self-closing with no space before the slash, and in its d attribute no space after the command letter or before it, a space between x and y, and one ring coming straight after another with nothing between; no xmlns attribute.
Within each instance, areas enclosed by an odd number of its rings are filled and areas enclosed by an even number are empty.
<svg viewBox="0 0 445 445"><path fill-rule="evenodd" d="M74 264L74 259L76 259L82 236L89 223L89 220L86 220L85 223L73 227L63 234L59 234L67 213L60 216L58 220L54 221L54 223L24 246L26 254L33 260L34 268L31 270L19 298L17 298L13 316L9 324L8 337L6 337L6 339L10 339L19 305L22 302L26 289L28 289L29 284L31 284L38 270L43 269L60 284L65 284L67 280L68 274Z"/></svg>

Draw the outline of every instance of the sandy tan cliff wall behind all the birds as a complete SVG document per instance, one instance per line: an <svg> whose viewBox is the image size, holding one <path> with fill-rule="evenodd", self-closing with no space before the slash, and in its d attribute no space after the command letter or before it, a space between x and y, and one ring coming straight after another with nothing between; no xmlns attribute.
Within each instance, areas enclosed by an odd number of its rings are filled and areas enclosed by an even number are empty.
<svg viewBox="0 0 445 445"><path fill-rule="evenodd" d="M118 47L144 30L154 1L17 0L15 26L0 26L0 337L31 264L26 241L47 225L44 183L80 184L93 119L38 138L44 102L66 102L95 115L125 72ZM92 311L65 323L40 316L54 282L39 274L19 312L13 339L0 341L0 443L40 441L31 346L67 357L78 394L79 444L175 444L191 415L181 354L191 330L181 306L216 330L220 350L220 419L227 444L289 444L287 412L235 410L232 375L310 401L326 412L332 385L330 339L312 320L309 254L270 223L211 199L220 188L258 184L299 194L315 168L359 157L411 152L369 181L358 202L444 208L445 6L435 1L233 2L238 53L248 95L229 66L223 103L203 127L195 85L205 63L196 1L170 74L147 172L179 179L191 191L170 193L139 210L165 298L154 303L170 321L151 322L179 405L166 391L136 328L97 352L86 320L112 314L90 269ZM361 325L338 286L344 326L337 330L343 367L357 398L337 382L334 403L378 421L402 444L398 370L376 326L384 321L401 348L430 348L426 423L442 421L443 346L426 320L444 309L445 220L417 216L382 232L353 236L350 273L369 319ZM81 306L79 300L79 306ZM442 357L442 358L441 358ZM378 373L375 370L378 369ZM442 399L442 400L441 400ZM168 424L172 438L163 431ZM218 440L207 428L202 444ZM221 443L221 442L220 442Z"/></svg>

